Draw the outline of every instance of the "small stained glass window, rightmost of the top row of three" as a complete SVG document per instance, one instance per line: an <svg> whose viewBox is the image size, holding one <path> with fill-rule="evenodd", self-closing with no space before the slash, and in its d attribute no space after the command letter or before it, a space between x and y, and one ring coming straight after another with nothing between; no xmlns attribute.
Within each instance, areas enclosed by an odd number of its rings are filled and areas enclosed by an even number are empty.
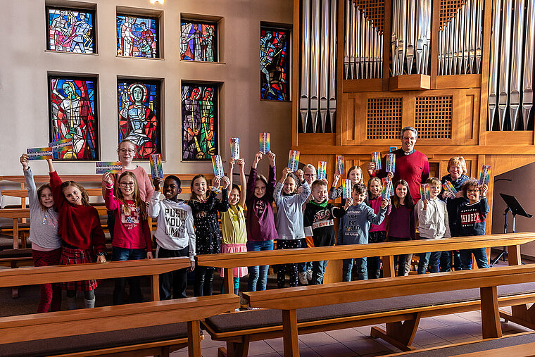
<svg viewBox="0 0 535 357"><path fill-rule="evenodd" d="M218 24L182 21L180 59L217 62Z"/></svg>

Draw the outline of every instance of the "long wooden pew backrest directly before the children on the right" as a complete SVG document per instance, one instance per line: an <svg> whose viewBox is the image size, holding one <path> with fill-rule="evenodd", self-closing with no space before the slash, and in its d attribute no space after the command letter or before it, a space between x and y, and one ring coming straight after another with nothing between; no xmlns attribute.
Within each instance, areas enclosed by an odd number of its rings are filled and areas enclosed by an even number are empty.
<svg viewBox="0 0 535 357"><path fill-rule="evenodd" d="M207 254L196 256L199 265L213 266L225 270L225 291L234 291L232 268L253 265L276 265L300 263L303 261L336 260L383 257L383 277L394 277L394 256L396 254L424 253L427 251L451 251L456 249L508 246L510 265L520 263L520 244L535 240L535 233L489 234L484 236L454 237L445 239L422 239L405 242L384 242L352 244L346 246L322 246L315 248L284 249L274 251L249 251L246 253ZM328 269L329 267L327 267ZM340 272L341 273L341 272ZM341 281L341 275L340 280ZM336 282L334 281L334 282ZM325 281L328 282L328 281ZM230 289L232 287L232 289Z"/></svg>

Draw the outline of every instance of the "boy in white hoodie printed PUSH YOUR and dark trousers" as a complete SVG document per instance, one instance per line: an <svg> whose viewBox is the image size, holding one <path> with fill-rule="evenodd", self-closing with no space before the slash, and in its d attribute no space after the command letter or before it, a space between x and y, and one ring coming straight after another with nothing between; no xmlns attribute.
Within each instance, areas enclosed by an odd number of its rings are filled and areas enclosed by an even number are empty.
<svg viewBox="0 0 535 357"><path fill-rule="evenodd" d="M191 267L160 274L160 299L181 299L186 296L187 271L195 269L195 230L191 208L179 199L182 192L180 179L175 175L155 178L154 193L147 213L151 218L158 218L156 225L156 258L174 258L189 256ZM165 199L160 201L160 187L163 184ZM171 293L172 290L172 293Z"/></svg>

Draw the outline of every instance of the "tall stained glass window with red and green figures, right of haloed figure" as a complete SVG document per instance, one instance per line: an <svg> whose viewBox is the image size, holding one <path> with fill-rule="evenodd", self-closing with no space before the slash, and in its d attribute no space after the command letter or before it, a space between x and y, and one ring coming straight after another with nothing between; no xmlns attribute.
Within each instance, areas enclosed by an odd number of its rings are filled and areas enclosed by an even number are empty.
<svg viewBox="0 0 535 357"><path fill-rule="evenodd" d="M182 160L209 161L218 154L218 87L182 84Z"/></svg>

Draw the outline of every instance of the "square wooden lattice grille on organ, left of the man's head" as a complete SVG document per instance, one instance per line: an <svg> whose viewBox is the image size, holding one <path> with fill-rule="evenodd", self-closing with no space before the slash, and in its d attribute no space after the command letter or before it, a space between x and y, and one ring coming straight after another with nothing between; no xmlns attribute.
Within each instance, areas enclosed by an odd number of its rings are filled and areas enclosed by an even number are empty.
<svg viewBox="0 0 535 357"><path fill-rule="evenodd" d="M397 139L401 130L401 98L368 98L367 139Z"/></svg>

